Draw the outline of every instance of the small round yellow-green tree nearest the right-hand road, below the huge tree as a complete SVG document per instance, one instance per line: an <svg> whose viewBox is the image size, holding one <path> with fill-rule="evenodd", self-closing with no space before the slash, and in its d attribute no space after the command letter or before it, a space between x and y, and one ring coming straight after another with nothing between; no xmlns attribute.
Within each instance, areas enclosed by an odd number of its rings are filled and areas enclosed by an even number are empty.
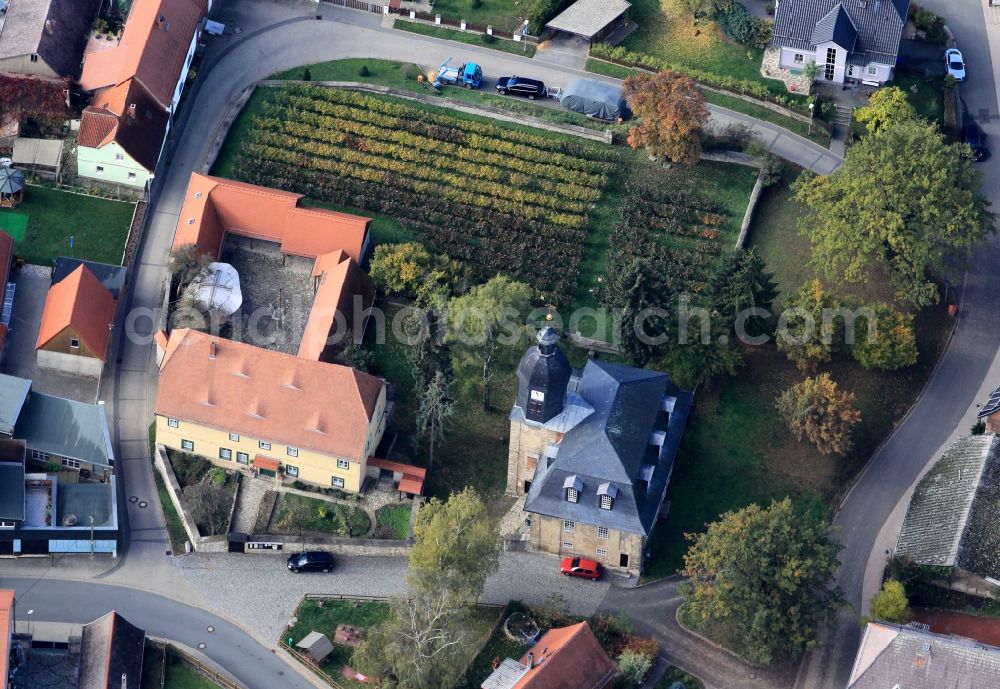
<svg viewBox="0 0 1000 689"><path fill-rule="evenodd" d="M896 311L886 303L869 307L870 315L860 316L854 331L851 354L866 369L895 371L917 363L917 338L913 316Z"/></svg>

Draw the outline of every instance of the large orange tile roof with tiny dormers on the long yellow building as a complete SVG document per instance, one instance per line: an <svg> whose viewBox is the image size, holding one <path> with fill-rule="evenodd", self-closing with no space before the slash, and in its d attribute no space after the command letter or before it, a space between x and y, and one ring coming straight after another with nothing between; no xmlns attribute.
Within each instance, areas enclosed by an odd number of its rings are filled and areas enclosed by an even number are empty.
<svg viewBox="0 0 1000 689"><path fill-rule="evenodd" d="M156 414L361 462L382 390L347 366L180 329L160 364Z"/></svg>

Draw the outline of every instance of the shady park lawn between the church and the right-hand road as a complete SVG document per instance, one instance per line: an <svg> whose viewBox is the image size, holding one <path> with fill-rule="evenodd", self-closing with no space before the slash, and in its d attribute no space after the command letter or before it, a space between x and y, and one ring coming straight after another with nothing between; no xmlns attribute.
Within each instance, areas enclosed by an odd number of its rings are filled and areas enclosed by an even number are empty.
<svg viewBox="0 0 1000 689"><path fill-rule="evenodd" d="M814 276L808 239L797 229L804 209L787 187L791 179L786 175L782 185L765 193L749 238L784 290L796 289ZM890 296L883 275L874 276L868 285L826 287L862 302ZM811 444L795 440L777 417L775 400L804 375L773 344L748 348L746 366L734 378L702 388L695 397L667 493L669 513L653 534L644 576L658 579L676 572L689 545L684 534L703 531L727 510L785 495L800 504L834 504L916 399L950 326L943 306L918 313L920 358L901 371L865 371L843 353L820 368L855 393L861 411L854 449L843 458L821 455Z"/></svg>

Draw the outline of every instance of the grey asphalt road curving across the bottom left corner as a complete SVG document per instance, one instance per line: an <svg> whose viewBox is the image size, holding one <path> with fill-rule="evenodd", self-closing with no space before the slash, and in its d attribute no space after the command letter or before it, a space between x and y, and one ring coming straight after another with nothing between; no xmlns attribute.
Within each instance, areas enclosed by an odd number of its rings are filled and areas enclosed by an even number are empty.
<svg viewBox="0 0 1000 689"><path fill-rule="evenodd" d="M264 586L264 582L252 582ZM79 624L115 610L146 630L197 649L248 687L314 689L269 648L239 627L200 608L136 589L81 581L0 578L16 591L19 621L26 619ZM29 618L27 612L33 610ZM209 631L209 628L213 631ZM202 646L204 644L204 646Z"/></svg>

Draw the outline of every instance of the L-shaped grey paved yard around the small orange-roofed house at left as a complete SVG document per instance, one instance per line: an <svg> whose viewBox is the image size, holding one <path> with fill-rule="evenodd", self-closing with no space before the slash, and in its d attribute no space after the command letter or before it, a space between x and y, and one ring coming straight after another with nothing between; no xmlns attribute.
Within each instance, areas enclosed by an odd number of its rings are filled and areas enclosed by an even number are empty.
<svg viewBox="0 0 1000 689"><path fill-rule="evenodd" d="M28 378L32 390L66 397L78 402L97 400L98 380L38 368L35 340L42 319L45 295L49 290L52 269L26 265L14 277L14 310L10 317L0 371L18 378Z"/></svg>

